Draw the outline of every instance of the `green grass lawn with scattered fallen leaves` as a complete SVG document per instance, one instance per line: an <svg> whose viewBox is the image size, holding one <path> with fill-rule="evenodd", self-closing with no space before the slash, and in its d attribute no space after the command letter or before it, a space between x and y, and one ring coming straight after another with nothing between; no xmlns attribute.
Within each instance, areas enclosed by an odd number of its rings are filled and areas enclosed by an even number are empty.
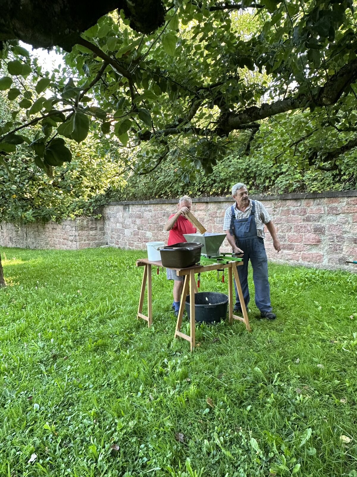
<svg viewBox="0 0 357 477"><path fill-rule="evenodd" d="M1 255L1 477L357 477L357 275L270 264L278 319L252 301L190 353L165 273L136 320L143 252Z"/></svg>

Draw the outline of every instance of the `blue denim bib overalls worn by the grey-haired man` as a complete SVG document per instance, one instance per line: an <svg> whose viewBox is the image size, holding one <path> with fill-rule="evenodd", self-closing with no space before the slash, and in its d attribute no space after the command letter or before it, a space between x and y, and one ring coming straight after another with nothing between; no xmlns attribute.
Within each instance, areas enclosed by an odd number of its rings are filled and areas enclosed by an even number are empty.
<svg viewBox="0 0 357 477"><path fill-rule="evenodd" d="M239 249L243 250L243 265L237 267L240 286L242 287L244 302L246 307L249 303L248 290L248 261L253 268L253 281L255 288L255 303L262 312L271 311L270 289L268 281L268 259L264 247L264 240L258 237L257 224L255 220L255 201L252 200L252 210L248 218L236 218L235 206L231 207L232 218L229 231L235 236L235 242ZM236 282L236 306L240 309Z"/></svg>

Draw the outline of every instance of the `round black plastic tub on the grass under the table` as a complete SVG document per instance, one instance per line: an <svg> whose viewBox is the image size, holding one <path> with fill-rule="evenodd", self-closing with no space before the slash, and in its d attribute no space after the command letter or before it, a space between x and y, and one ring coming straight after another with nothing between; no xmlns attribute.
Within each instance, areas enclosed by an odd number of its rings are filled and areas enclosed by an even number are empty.
<svg viewBox="0 0 357 477"><path fill-rule="evenodd" d="M189 312L189 295L185 301L186 312L188 318ZM228 307L228 296L224 293L215 293L213 291L200 291L195 293L195 320L201 323L219 323L226 318Z"/></svg>

